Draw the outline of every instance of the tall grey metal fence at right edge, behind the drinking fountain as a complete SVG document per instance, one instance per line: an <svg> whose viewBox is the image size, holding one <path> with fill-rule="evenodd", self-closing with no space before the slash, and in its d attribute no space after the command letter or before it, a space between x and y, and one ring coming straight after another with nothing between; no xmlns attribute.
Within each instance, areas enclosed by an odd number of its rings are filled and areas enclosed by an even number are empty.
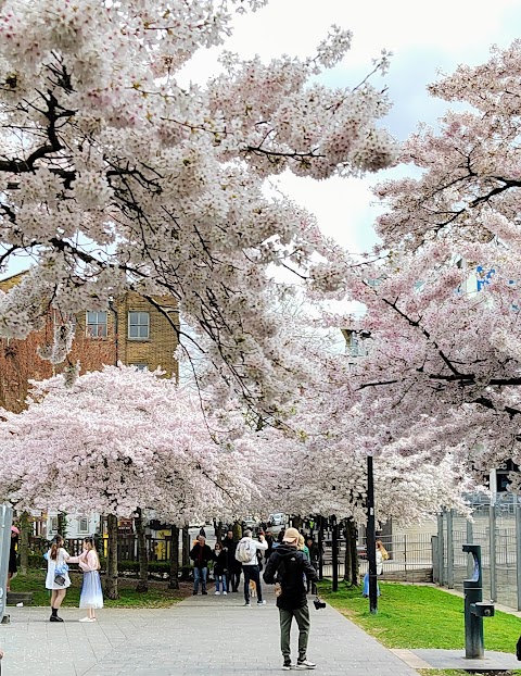
<svg viewBox="0 0 521 676"><path fill-rule="evenodd" d="M473 521L445 512L433 538L433 578L462 590L471 574L465 542L481 544L483 598L521 610L521 504L500 502L474 508Z"/></svg>

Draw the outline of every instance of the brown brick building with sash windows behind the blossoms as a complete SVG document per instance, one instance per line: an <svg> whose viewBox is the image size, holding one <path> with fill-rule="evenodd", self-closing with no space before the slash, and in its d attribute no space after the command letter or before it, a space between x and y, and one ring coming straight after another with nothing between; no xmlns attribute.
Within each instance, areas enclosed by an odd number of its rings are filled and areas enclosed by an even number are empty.
<svg viewBox="0 0 521 676"><path fill-rule="evenodd" d="M0 280L0 290L7 292L20 284L25 274ZM31 331L25 340L0 338L0 406L21 412L30 379L49 378L77 361L81 373L120 362L150 371L161 367L165 377L178 375L174 353L178 346L179 313L169 297L154 298L151 303L129 291L114 299L103 311L78 313L73 317L75 335L71 353L63 364L53 366L38 356L37 348L52 342L54 325L62 321L63 317L50 309L43 329ZM97 514L68 515L67 522L68 537L99 530ZM35 514L34 528L36 535L52 536L58 529L58 515L50 512L38 517Z"/></svg>

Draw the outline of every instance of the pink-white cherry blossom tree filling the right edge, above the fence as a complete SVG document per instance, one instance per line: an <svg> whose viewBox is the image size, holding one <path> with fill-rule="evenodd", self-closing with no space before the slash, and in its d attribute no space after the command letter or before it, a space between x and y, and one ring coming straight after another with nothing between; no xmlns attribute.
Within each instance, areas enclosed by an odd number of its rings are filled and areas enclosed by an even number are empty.
<svg viewBox="0 0 521 676"><path fill-rule="evenodd" d="M367 309L343 320L367 336L346 401L397 452L481 475L521 461L520 68L516 41L430 87L466 110L405 142L410 175L376 190L382 243L335 286Z"/></svg>

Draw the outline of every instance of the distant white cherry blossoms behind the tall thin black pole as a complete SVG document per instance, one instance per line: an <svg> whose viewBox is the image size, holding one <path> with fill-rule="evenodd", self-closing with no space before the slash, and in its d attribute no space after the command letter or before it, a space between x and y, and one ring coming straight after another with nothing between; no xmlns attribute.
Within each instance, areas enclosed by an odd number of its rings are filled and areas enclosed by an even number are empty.
<svg viewBox="0 0 521 676"><path fill-rule="evenodd" d="M282 308L280 321L308 373L282 420L236 441L260 488L253 511L335 515L365 524L371 454L380 524L391 518L398 525L420 523L443 508L470 515L466 495L478 486L459 460L447 453L433 460L431 449L417 445L408 429L390 436L381 425L380 401L365 401L364 408L353 397L354 365L339 350L341 333L319 330L322 317L292 304Z"/></svg>

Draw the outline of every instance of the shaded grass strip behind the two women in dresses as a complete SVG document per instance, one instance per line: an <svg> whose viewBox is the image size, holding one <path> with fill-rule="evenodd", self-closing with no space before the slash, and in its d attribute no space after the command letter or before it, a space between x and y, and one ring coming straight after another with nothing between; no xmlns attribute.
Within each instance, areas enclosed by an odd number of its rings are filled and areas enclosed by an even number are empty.
<svg viewBox="0 0 521 676"><path fill-rule="evenodd" d="M103 579L103 577L102 577ZM81 574L71 574L72 585L67 589L64 606L79 605L79 592L81 589ZM168 583L149 581L149 591L136 591L136 579L120 578L118 581L119 599L111 601L104 599L105 608L168 608L181 601L191 593L192 585L181 583L181 589L168 589ZM46 589L46 571L29 569L26 576L18 575L12 580L13 591L31 591L33 605L49 605L50 592Z"/></svg>

